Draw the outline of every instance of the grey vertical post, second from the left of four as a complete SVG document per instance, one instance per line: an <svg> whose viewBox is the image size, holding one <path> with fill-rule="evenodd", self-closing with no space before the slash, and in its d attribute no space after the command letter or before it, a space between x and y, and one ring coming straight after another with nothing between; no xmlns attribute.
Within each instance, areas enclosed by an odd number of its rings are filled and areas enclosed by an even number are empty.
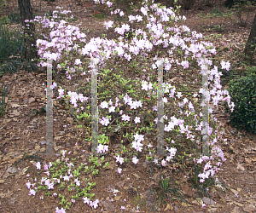
<svg viewBox="0 0 256 213"><path fill-rule="evenodd" d="M91 153L96 154L98 141L98 106L97 106L97 62L90 60L91 70Z"/></svg>

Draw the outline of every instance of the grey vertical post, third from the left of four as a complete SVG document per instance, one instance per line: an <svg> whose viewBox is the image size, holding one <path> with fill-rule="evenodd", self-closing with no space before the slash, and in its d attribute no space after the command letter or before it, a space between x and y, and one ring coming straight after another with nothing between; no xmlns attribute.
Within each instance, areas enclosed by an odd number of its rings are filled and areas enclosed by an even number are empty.
<svg viewBox="0 0 256 213"><path fill-rule="evenodd" d="M163 103L163 61L157 60L158 90L157 90L157 155L164 154L164 103Z"/></svg>

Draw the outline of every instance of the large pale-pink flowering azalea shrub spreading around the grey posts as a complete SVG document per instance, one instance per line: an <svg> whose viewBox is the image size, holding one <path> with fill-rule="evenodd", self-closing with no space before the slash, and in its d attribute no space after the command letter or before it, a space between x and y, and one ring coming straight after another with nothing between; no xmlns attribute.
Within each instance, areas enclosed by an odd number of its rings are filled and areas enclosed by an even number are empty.
<svg viewBox="0 0 256 213"><path fill-rule="evenodd" d="M104 1L102 1L102 4L104 4ZM110 2L106 4L108 7L112 5ZM53 11L53 16L50 20L45 18L41 20L37 16L32 21L38 21L42 28L44 28L44 31L49 31L49 37L45 36L46 40L38 39L37 41L38 55L42 58L40 65L47 66L47 59L54 60L58 71L66 72L67 78L71 79L75 72L83 71L83 65L87 65L84 58L90 57L91 59L94 58L98 68L103 70L102 73L99 73L104 77L98 85L99 96L102 95L102 99L107 99L105 95L108 95L110 98L108 101L99 102L99 123L101 124L102 132L107 134L109 131L114 132L120 129L119 131L124 133L123 136L128 141L132 141L129 152L127 152L124 146L122 148L125 152L116 153L116 162L120 164L117 172L121 173L121 165L128 162L128 160L131 160L133 164L137 164L139 161L138 153L146 150L149 153L147 158L153 158L154 164L166 166L167 164L172 164L173 158L183 157L186 160L192 159L195 163L202 164L204 170L198 176L201 179L200 181L203 182L218 172L218 167L222 164L221 161L224 162L225 160L224 153L216 146L217 141L220 140L215 135L218 132L217 124L211 121L212 123L209 127L208 135L211 153L209 156L201 156L199 153L199 140L195 139L201 135L200 132L203 126L200 121L200 117L202 117L200 108L202 105L186 97L182 98L182 93L170 83L164 83L163 85L164 91L169 93L168 98L170 100L168 101L166 97L163 99L166 109L173 107L173 103L176 105L177 99L181 101L178 103L179 112L167 112L166 110L166 114L163 116L163 120L168 122L168 124L165 124L164 129L166 131L166 141L168 141L168 146L166 146L166 153L168 154L161 159L161 162L158 162L158 159L154 159L153 153L155 150L152 149L152 145L149 144L148 147L145 147L143 141L144 134L154 132L158 122L158 119L155 118L157 113L156 98L158 86L154 81L152 71L160 66L159 58L162 60L166 72L170 71L174 66L177 66L180 71L184 72L189 66L194 67L201 70L201 76L209 72L210 91L207 96L208 101L212 101L213 105L218 105L218 101L227 101L229 107L234 107L234 103L230 103L228 91L221 90L221 73L218 72L218 66L213 66L212 60L208 59L212 54L216 55L216 50L212 43L203 41L200 33L190 32L187 26L176 26L175 23L177 21L185 19L185 17L176 15L177 10L172 8L166 9L166 7L160 7L160 4L155 4L154 1L148 2L146 0L140 11L144 17L142 15L130 15L129 22L137 21L137 26L144 25L147 30L143 31L141 28L133 29L135 37L130 42L126 41L123 37L125 32L130 31L128 24L116 27L115 32L120 34L119 41L96 37L88 42L86 34L81 32L79 27L69 25L66 20L58 20L58 11ZM61 13L67 13L67 11L62 11ZM114 11L114 14L117 13L120 16L124 14L119 9ZM166 21L171 22L173 26L166 27L161 23ZM107 29L113 27L113 21L106 22L105 26ZM125 65L127 67L131 66L131 59L136 64L137 61L134 59L148 56L148 53L154 50L154 46L168 49L170 57L164 58L160 54L155 55L154 60L157 61L151 67L144 66L143 69L137 68L137 70L133 70L134 74L141 76L143 80L134 80L133 83L129 84L129 80L122 77L123 72L120 67L125 67ZM176 57L176 55L180 57ZM116 66L111 67L113 65ZM207 68L207 65L209 68ZM230 63L221 61L221 66L222 69L229 70ZM88 68L92 67L92 64L88 64ZM110 73L113 73L114 80ZM90 79L90 74L91 70L85 71L84 77ZM108 78L112 79L112 84L109 83ZM152 82L150 82L150 78ZM198 82L200 82L201 78L198 78ZM114 86L115 80L117 82ZM115 87L118 85L121 91L119 95L114 92L114 90L117 91ZM56 83L53 84L53 89L55 86ZM89 80L88 88L90 88ZM90 117L88 117L90 114L90 107L88 107L90 101L87 97L71 91L67 93L68 95L64 95L64 89L61 88L58 91L59 98L70 97L69 101L73 105L74 112L80 113L78 118L86 117L90 120ZM200 89L199 92L207 95L207 91L203 89ZM175 95L176 93L177 95ZM198 94L195 93L193 97L195 98L196 96ZM172 99L175 101L171 101ZM212 113L211 109L209 113ZM217 121L213 118L212 120ZM113 128L114 126L119 128L115 129ZM124 130L128 128L130 131ZM97 153L106 153L108 152L108 143L106 142L108 137L100 136L102 141L97 147ZM181 150L185 148L189 152L182 153ZM72 176L71 170L68 170L68 172L68 175ZM57 174L55 178L60 179L63 175ZM67 175L65 176L67 179ZM77 179L76 182L78 182ZM51 184L53 184L53 181L51 181ZM83 196L82 193L79 195ZM59 194L59 196L61 195ZM96 206L96 204L90 204Z"/></svg>

